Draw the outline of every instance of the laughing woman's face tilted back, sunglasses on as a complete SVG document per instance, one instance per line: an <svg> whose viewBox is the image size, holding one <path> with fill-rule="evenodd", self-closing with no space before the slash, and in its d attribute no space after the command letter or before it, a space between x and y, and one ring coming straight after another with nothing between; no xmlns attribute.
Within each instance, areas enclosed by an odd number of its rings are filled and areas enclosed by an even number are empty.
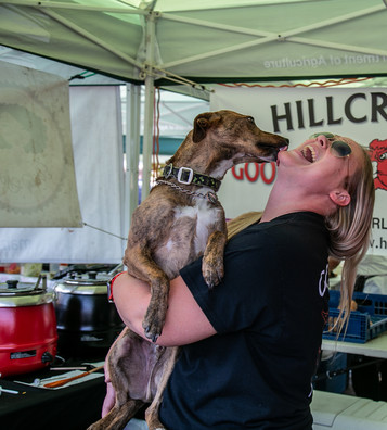
<svg viewBox="0 0 387 430"><path fill-rule="evenodd" d="M351 153L336 156L331 149L334 140L349 143ZM291 186L306 190L331 192L336 188L346 188L348 175L361 166L363 153L358 143L347 138L335 136L332 139L324 135L306 140L291 151L281 151L278 161L278 180L284 179Z"/></svg>

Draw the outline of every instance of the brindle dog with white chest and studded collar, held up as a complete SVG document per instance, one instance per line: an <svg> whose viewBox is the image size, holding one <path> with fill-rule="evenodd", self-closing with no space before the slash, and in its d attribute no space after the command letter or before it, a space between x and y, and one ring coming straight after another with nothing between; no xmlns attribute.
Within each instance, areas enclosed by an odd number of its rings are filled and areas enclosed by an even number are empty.
<svg viewBox="0 0 387 430"><path fill-rule="evenodd" d="M216 195L220 180L235 164L275 161L287 146L287 139L260 130L251 116L219 111L195 118L164 176L134 211L124 257L128 271L151 286L143 328L153 342L124 329L106 357L106 379L116 392L114 407L89 430L122 429L150 402L150 430L165 429L158 407L178 347L155 342L165 322L169 279L203 255L206 283L219 283L227 241L224 211Z"/></svg>

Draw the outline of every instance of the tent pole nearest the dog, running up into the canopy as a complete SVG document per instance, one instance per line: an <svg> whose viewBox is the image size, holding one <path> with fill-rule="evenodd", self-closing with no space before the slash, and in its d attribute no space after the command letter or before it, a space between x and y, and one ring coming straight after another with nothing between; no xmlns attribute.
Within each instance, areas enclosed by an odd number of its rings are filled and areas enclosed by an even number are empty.
<svg viewBox="0 0 387 430"><path fill-rule="evenodd" d="M146 16L145 51L146 63L152 66L155 62L155 15ZM152 67L151 67L152 68ZM155 79L151 74L145 77L145 101L144 101L144 134L142 142L142 188L141 201L143 202L151 186L152 152L153 152L153 113L154 113Z"/></svg>

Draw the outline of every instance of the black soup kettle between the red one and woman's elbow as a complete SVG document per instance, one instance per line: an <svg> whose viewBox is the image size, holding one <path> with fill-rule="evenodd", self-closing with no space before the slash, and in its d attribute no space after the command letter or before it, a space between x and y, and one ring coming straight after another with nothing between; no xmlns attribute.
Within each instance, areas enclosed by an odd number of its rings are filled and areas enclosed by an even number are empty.
<svg viewBox="0 0 387 430"><path fill-rule="evenodd" d="M121 331L124 322L107 298L111 279L95 271L74 273L54 287L60 353L105 353Z"/></svg>

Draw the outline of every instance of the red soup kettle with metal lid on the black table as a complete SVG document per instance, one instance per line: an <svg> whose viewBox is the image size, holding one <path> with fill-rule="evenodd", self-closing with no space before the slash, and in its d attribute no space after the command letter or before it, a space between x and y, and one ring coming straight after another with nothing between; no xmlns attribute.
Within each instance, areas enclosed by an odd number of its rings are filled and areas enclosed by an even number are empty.
<svg viewBox="0 0 387 430"><path fill-rule="evenodd" d="M40 281L0 283L1 377L38 370L56 355L53 293Z"/></svg>

